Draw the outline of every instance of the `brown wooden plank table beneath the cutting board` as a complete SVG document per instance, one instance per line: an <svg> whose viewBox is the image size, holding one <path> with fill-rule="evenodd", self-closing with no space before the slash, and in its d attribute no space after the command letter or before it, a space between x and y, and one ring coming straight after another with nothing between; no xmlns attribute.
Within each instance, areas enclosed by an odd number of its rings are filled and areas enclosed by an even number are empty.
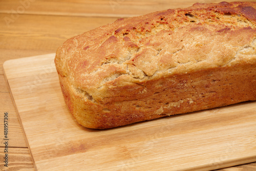
<svg viewBox="0 0 256 171"><path fill-rule="evenodd" d="M254 1L254 0L252 0ZM17 117L3 63L8 59L55 53L66 39L130 17L168 8L189 7L214 0L1 0L0 1L0 170L34 170L25 135ZM227 1L230 2L230 1ZM14 68L15 69L15 68ZM8 113L8 168L4 167L4 113ZM256 170L256 163L220 170Z"/></svg>

